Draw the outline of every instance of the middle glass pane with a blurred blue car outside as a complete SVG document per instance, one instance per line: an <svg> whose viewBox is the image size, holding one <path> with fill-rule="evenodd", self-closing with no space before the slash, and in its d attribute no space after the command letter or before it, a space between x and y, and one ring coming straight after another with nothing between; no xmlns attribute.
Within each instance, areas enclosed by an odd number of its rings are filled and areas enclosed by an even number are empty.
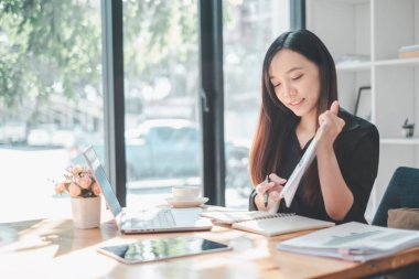
<svg viewBox="0 0 419 279"><path fill-rule="evenodd" d="M125 1L127 204L201 186L197 0Z"/></svg>

